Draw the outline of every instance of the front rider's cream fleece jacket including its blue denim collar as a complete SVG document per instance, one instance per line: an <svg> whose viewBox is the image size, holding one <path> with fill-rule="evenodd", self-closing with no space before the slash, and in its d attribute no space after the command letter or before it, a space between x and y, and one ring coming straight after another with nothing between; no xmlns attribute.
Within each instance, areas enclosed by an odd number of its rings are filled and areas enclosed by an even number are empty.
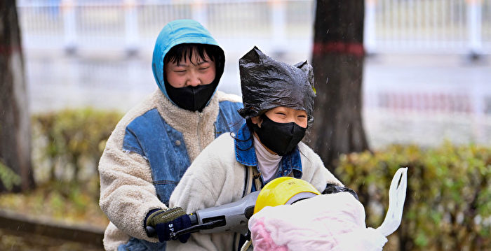
<svg viewBox="0 0 491 251"><path fill-rule="evenodd" d="M246 171L257 169L253 135L246 124L236 134L222 134L196 157L170 196L170 206L187 213L241 199ZM259 172L259 170L257 170ZM292 176L323 191L327 183L342 185L323 165L321 158L304 143L283 156L275 177ZM260 177L260 185L264 185ZM257 187L260 189L260 187ZM254 189L253 189L254 190ZM185 244L168 242L170 250L233 250L234 233L191 234Z"/></svg>

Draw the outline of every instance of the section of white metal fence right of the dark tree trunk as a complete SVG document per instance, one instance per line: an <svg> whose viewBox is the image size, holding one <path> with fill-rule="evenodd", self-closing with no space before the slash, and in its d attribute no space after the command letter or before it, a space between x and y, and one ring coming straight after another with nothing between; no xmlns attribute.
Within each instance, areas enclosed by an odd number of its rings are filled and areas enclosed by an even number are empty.
<svg viewBox="0 0 491 251"><path fill-rule="evenodd" d="M372 52L491 52L489 0L368 0L365 25Z"/></svg>

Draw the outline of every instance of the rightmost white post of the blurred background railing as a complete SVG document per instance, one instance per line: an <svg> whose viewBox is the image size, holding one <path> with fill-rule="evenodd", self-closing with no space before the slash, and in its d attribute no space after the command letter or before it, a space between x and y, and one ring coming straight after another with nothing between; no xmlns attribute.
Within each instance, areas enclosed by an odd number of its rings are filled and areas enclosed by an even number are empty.
<svg viewBox="0 0 491 251"><path fill-rule="evenodd" d="M467 0L467 27L469 30L469 53L472 59L477 59L482 48L481 24L482 0Z"/></svg>

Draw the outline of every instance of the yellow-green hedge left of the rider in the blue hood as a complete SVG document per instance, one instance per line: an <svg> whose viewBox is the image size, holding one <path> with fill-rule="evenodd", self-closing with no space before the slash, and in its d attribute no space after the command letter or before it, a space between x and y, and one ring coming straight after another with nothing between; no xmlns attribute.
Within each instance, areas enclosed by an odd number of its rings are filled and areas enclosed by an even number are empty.
<svg viewBox="0 0 491 251"><path fill-rule="evenodd" d="M33 168L36 182L93 178L107 138L121 117L121 113L116 111L92 108L34 115Z"/></svg>

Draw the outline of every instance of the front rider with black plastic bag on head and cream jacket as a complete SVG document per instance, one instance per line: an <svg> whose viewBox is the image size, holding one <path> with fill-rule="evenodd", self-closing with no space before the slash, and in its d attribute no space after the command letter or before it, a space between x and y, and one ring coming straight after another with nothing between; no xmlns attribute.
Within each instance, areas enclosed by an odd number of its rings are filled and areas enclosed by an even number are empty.
<svg viewBox="0 0 491 251"><path fill-rule="evenodd" d="M253 48L239 60L245 118L241 129L223 134L196 157L170 196L187 213L238 201L278 177L300 178L324 192L349 191L302 143L314 121L314 78L307 62L292 66ZM354 194L354 192L352 192ZM356 194L354 194L356 196ZM234 233L191 234L170 250L237 250Z"/></svg>

